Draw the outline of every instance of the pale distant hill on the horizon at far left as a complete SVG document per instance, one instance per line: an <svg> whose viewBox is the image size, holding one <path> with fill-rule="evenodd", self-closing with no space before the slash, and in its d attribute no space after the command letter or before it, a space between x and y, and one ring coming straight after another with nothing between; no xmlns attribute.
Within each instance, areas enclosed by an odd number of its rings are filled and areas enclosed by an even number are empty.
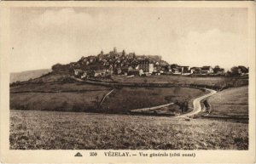
<svg viewBox="0 0 256 164"><path fill-rule="evenodd" d="M32 70L32 71L21 71L21 72L13 72L10 73L10 83L11 82L23 82L27 81L29 79L37 78L39 76L43 76L44 74L47 74L50 72L51 69L42 69L42 70Z"/></svg>

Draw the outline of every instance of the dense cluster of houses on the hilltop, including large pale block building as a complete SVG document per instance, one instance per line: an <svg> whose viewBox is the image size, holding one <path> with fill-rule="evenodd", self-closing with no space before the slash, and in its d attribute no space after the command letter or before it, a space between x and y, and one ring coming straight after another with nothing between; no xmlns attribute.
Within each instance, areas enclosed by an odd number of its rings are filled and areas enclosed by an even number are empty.
<svg viewBox="0 0 256 164"><path fill-rule="evenodd" d="M101 51L97 56L82 57L74 65L74 75L85 76L143 76L152 74L154 65L159 65L160 56L137 56L135 53L126 54L125 50L117 52L116 48L108 54Z"/></svg>

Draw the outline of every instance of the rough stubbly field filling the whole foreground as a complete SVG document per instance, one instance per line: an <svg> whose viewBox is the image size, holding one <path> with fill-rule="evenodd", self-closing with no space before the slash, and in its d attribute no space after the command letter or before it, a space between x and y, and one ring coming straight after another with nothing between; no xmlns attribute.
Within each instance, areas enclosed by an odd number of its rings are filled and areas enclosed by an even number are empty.
<svg viewBox="0 0 256 164"><path fill-rule="evenodd" d="M248 125L170 117L10 111L12 150L247 150Z"/></svg>

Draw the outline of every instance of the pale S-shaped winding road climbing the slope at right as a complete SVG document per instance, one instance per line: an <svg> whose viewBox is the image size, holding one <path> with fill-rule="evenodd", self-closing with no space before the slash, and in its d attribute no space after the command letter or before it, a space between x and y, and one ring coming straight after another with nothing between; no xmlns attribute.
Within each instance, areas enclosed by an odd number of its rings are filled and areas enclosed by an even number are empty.
<svg viewBox="0 0 256 164"><path fill-rule="evenodd" d="M197 99L194 99L194 101L193 101L193 106L194 106L193 110L191 112L189 112L189 113L177 116L178 118L189 117L189 116L193 116L193 115L199 113L201 111L201 104L200 104L201 100L207 99L208 97L210 97L213 94L217 93L217 91L215 91L215 90L207 89L207 88L205 88L205 89L207 91L210 91L210 93L208 93L206 95L203 95L203 96L201 96L201 97L199 97Z"/></svg>

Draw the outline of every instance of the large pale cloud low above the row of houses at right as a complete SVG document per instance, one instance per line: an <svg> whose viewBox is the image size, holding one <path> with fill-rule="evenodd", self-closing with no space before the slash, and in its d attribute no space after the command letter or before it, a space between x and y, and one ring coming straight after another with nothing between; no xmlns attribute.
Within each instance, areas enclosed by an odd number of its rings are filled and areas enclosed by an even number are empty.
<svg viewBox="0 0 256 164"><path fill-rule="evenodd" d="M229 31L190 31L172 47L174 60L187 65L247 65L247 36Z"/></svg>

